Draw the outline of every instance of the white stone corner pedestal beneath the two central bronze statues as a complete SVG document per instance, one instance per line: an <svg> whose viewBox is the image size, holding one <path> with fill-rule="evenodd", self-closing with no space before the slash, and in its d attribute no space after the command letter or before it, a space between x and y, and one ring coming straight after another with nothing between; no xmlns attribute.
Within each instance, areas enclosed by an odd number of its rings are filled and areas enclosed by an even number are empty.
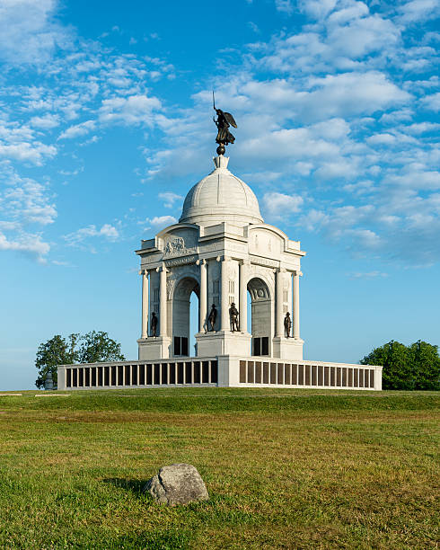
<svg viewBox="0 0 440 550"><path fill-rule="evenodd" d="M196 334L198 357L251 355L251 334L218 331Z"/></svg>

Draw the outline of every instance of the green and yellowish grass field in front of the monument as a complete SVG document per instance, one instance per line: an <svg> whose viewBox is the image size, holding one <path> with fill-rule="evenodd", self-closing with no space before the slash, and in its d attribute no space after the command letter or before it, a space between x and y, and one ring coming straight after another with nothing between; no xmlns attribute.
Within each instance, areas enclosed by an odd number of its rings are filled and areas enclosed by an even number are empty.
<svg viewBox="0 0 440 550"><path fill-rule="evenodd" d="M2 548L438 547L438 394L36 395L0 395ZM176 462L210 501L142 494Z"/></svg>

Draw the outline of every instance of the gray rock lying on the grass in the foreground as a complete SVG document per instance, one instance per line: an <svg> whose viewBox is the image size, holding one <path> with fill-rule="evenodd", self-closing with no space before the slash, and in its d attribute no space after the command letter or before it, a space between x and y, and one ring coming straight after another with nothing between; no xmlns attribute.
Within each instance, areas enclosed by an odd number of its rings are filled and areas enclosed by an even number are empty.
<svg viewBox="0 0 440 550"><path fill-rule="evenodd" d="M203 479L190 464L163 466L145 483L144 492L147 491L155 501L168 506L209 499Z"/></svg>

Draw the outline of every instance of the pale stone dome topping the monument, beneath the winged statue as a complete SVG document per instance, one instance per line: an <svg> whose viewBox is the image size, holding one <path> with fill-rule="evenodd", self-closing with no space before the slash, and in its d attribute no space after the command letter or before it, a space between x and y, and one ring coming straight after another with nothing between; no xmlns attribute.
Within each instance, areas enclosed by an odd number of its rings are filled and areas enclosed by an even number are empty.
<svg viewBox="0 0 440 550"><path fill-rule="evenodd" d="M227 221L234 226L263 223L259 201L245 182L228 168L229 158L216 156L216 169L189 190L180 223L214 226Z"/></svg>

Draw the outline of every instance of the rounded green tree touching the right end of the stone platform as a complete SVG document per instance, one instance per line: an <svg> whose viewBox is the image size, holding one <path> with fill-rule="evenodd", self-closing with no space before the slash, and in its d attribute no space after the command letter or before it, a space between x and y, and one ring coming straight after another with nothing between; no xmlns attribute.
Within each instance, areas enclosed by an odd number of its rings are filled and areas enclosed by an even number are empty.
<svg viewBox="0 0 440 550"><path fill-rule="evenodd" d="M414 389L414 376L409 364L408 348L400 343L388 342L375 348L360 361L361 365L382 365L383 389Z"/></svg>

